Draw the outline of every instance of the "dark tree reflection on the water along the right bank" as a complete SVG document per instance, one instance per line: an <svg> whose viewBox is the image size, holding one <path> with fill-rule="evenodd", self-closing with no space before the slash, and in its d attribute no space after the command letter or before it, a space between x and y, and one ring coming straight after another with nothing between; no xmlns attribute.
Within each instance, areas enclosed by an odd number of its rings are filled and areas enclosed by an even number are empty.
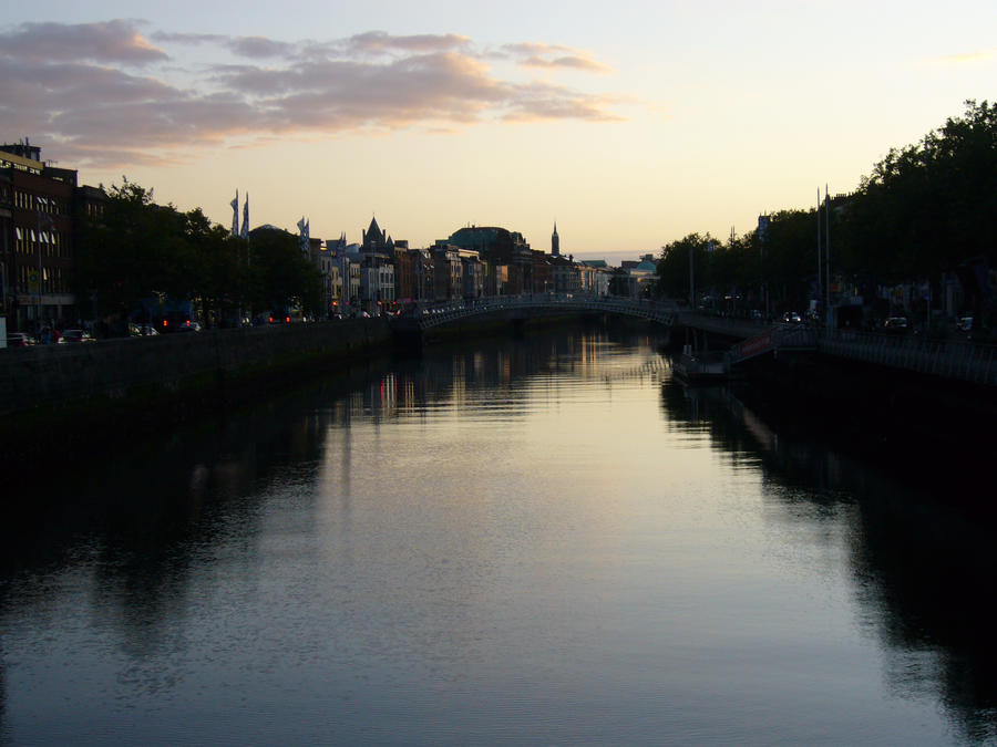
<svg viewBox="0 0 997 747"><path fill-rule="evenodd" d="M966 739L997 738L989 521L902 479L909 474L820 444L820 434L780 437L727 387L668 381L661 407L677 427L708 432L732 465L761 467L773 520L823 526L844 541L861 623L888 649L897 695L941 703Z"/></svg>

